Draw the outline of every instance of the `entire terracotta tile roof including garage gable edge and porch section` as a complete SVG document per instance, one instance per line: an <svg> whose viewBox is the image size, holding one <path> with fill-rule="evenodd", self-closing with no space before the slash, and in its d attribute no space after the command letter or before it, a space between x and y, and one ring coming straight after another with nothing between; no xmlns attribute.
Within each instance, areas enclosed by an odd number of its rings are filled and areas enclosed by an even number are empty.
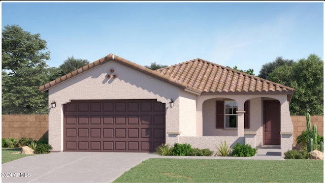
<svg viewBox="0 0 325 183"><path fill-rule="evenodd" d="M123 65L137 69L140 72L172 83L198 95L203 93L286 92L288 93L288 98L291 98L291 95L295 92L294 88L248 75L231 68L219 66L200 58L153 71L113 54L109 54L67 75L46 83L40 86L40 90L45 92L54 85L109 62L110 60L115 60Z"/></svg>

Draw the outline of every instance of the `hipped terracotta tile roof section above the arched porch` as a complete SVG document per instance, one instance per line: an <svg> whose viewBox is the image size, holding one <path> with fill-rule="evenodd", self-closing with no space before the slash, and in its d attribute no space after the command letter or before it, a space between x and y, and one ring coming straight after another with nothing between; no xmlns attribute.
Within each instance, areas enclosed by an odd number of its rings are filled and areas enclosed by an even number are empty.
<svg viewBox="0 0 325 183"><path fill-rule="evenodd" d="M294 88L197 58L156 72L197 88L202 93L295 92Z"/></svg>

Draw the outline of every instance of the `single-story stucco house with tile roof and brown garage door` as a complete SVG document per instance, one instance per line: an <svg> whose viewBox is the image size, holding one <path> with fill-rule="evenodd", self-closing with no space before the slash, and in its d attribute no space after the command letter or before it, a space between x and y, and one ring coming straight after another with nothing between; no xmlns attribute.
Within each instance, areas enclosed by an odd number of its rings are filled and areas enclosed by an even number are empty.
<svg viewBox="0 0 325 183"><path fill-rule="evenodd" d="M293 148L294 88L200 58L153 71L109 54L40 90L53 151L151 152L175 142L215 151L224 139L282 156Z"/></svg>

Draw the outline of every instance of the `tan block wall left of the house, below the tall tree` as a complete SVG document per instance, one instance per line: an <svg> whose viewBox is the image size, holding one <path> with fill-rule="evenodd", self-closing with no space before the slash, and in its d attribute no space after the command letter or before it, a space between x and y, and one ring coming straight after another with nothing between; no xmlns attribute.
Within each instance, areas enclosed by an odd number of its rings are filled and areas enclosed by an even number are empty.
<svg viewBox="0 0 325 183"><path fill-rule="evenodd" d="M2 138L48 138L48 114L2 115Z"/></svg>

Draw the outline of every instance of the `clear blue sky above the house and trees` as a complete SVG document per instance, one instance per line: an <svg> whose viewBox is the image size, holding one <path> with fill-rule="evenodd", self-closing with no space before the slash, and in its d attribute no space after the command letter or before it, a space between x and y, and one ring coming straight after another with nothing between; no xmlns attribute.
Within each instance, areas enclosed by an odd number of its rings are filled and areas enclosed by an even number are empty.
<svg viewBox="0 0 325 183"><path fill-rule="evenodd" d="M277 56L323 59L323 3L2 1L2 29L17 24L47 42L50 67L68 56L113 53L147 66L202 58L254 69Z"/></svg>

